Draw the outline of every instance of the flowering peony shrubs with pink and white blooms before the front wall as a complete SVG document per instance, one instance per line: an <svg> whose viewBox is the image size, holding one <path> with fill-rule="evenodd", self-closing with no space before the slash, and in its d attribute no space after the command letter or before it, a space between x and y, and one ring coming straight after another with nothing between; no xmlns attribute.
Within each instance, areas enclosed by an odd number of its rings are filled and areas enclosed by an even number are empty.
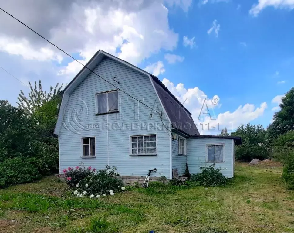
<svg viewBox="0 0 294 233"><path fill-rule="evenodd" d="M116 167L101 169L96 172L96 169L88 167L68 168L64 170L67 183L70 187L75 188L80 194L86 191L86 195L101 195L109 194L112 190L114 193L122 191L123 182L117 177L120 176L116 172Z"/></svg>

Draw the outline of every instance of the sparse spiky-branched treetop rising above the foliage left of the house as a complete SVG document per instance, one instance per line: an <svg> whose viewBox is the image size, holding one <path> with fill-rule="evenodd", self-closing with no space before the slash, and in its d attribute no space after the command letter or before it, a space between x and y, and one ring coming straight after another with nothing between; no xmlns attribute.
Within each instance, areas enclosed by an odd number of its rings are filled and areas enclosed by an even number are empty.
<svg viewBox="0 0 294 233"><path fill-rule="evenodd" d="M51 86L50 91L46 93L46 91L42 90L41 80L39 80L38 85L35 81L34 88L32 87L31 82L29 82L29 87L31 89L31 91L29 92L29 97L26 97L24 92L21 90L18 97L19 102L16 103L19 106L19 108L26 110L29 114L32 114L38 108L43 106L46 102L51 100L52 97L60 94L63 84L61 84L60 87L58 86L59 83L57 83L54 88Z"/></svg>

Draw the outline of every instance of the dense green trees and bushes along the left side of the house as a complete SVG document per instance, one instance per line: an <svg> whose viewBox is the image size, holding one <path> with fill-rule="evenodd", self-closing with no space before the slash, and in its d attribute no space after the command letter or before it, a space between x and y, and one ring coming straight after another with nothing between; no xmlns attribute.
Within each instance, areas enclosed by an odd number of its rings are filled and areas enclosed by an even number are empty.
<svg viewBox="0 0 294 233"><path fill-rule="evenodd" d="M42 90L29 82L17 105L0 100L0 187L27 183L58 172L58 139L53 131L63 84Z"/></svg>

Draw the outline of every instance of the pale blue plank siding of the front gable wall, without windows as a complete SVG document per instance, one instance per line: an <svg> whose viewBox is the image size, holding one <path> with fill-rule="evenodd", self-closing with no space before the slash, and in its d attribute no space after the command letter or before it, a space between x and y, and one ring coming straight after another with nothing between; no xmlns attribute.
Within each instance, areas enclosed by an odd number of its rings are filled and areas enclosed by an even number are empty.
<svg viewBox="0 0 294 233"><path fill-rule="evenodd" d="M148 76L110 58L103 59L94 72L156 111L162 111L163 122L168 125L167 117ZM113 81L113 77L116 77L120 84ZM134 105L133 98L118 90L120 112L96 115L95 93L113 89L115 87L90 73L70 94L59 133L60 170L82 162L84 166L96 169L101 169L106 164L116 166L121 175L127 176L146 176L148 170L157 168L157 173L152 173L152 176L170 178L169 135L164 127L161 127L161 130L152 127L152 124L161 125L158 113L143 104L139 104L138 110L138 102L135 101ZM151 113L153 115L150 118ZM142 124L147 124L150 128L137 130L134 127ZM130 128L132 126L133 128ZM156 156L130 156L130 135L142 134L157 134ZM80 138L87 136L96 137L96 158L80 157Z"/></svg>

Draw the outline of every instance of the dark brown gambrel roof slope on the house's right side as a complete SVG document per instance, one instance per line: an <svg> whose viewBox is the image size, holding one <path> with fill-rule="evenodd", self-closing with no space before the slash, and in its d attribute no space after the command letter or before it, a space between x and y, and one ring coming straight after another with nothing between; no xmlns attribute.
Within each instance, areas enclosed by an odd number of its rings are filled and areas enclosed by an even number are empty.
<svg viewBox="0 0 294 233"><path fill-rule="evenodd" d="M198 129L191 117L191 113L154 75L151 75L157 94L164 105L172 127L189 136L199 135Z"/></svg>

